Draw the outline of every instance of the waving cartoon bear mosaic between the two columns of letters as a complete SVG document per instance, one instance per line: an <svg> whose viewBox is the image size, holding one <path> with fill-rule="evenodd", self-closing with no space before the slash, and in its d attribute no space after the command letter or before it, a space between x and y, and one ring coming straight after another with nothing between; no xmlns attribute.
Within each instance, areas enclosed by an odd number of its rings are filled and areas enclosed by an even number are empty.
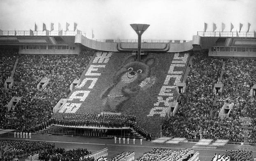
<svg viewBox="0 0 256 161"><path fill-rule="evenodd" d="M126 63L116 72L114 85L102 95L102 103L106 111L119 111L121 105L128 101L130 97L137 95L141 89L154 84L155 78L150 77L150 75L155 59L149 58L144 62L132 61Z"/></svg>

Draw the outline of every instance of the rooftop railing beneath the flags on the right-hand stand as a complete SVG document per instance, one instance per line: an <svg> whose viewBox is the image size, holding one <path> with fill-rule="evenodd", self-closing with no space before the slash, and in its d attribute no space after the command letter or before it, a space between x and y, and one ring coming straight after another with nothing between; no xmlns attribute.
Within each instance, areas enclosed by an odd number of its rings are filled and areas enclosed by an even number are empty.
<svg viewBox="0 0 256 161"><path fill-rule="evenodd" d="M199 36L204 36L204 37L256 37L255 32L203 32L203 31L198 31L197 35Z"/></svg>

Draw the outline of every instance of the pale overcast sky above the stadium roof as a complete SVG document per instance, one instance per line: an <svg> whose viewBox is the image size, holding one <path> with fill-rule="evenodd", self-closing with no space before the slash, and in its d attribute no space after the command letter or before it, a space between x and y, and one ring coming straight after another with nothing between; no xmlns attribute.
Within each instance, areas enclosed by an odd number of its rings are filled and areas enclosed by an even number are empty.
<svg viewBox="0 0 256 161"><path fill-rule="evenodd" d="M256 0L0 0L0 29L42 30L42 23L55 30L61 23L74 22L91 39L137 39L131 23L147 23L149 28L142 39L185 39L191 40L197 31L202 31L204 22L212 31L217 31L221 22L224 31L230 31L230 22L235 31L239 23L242 31L256 30Z"/></svg>

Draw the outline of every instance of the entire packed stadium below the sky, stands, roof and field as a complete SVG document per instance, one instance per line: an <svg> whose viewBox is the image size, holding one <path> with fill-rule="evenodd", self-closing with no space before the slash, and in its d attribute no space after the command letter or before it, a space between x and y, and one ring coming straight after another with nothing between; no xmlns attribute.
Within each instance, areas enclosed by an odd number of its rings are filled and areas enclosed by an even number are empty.
<svg viewBox="0 0 256 161"><path fill-rule="evenodd" d="M32 24L0 20L0 161L256 161L255 20L190 40Z"/></svg>

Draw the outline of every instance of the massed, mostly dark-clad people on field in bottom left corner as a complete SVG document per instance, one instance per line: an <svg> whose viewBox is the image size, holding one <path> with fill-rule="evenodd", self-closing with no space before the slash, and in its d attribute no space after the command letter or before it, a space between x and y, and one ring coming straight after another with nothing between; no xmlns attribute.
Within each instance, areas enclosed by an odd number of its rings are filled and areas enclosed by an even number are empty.
<svg viewBox="0 0 256 161"><path fill-rule="evenodd" d="M66 151L46 142L0 141L0 161L13 161L14 158L27 158L29 161L106 161L106 157L96 160L90 154L87 149Z"/></svg>

